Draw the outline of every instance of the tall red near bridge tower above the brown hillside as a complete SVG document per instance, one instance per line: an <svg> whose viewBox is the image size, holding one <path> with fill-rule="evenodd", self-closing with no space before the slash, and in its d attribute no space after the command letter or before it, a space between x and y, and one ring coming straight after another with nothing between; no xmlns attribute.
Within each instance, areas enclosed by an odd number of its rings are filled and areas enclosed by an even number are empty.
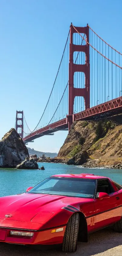
<svg viewBox="0 0 122 256"><path fill-rule="evenodd" d="M76 30L75 30L76 28ZM69 55L69 113L68 118L68 129L70 130L71 124L73 122L73 108L74 108L74 98L76 96L84 97L85 109L90 108L90 63L89 63L89 27L73 27L72 23L70 26L70 55ZM75 45L73 44L73 33L83 33L86 34L86 44L85 45ZM74 64L73 53L85 52L85 64ZM74 72L83 72L85 75L85 88L75 88L74 87Z"/></svg>

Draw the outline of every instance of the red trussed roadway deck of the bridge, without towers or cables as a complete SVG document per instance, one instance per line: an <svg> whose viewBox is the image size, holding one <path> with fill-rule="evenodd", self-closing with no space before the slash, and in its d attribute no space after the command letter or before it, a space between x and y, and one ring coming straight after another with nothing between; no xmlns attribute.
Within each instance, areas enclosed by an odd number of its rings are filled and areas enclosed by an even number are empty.
<svg viewBox="0 0 122 256"><path fill-rule="evenodd" d="M87 110L81 111L79 113L73 114L74 121L82 120L93 120L100 119L116 114L122 113L122 96L116 99L112 99L105 103L99 104ZM37 139L44 135L53 135L53 132L57 131L66 131L68 130L68 116L64 119L61 119L53 124L49 124L43 128L34 131L23 138L23 141L26 143L31 142L34 139Z"/></svg>

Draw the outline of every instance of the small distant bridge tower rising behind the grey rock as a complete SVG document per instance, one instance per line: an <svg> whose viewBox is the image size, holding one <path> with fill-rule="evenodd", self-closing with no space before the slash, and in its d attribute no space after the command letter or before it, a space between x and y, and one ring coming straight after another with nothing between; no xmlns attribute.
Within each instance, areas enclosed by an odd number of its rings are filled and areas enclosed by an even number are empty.
<svg viewBox="0 0 122 256"><path fill-rule="evenodd" d="M21 114L21 117L19 117L18 114ZM23 139L23 110L16 111L16 132L18 132Z"/></svg>

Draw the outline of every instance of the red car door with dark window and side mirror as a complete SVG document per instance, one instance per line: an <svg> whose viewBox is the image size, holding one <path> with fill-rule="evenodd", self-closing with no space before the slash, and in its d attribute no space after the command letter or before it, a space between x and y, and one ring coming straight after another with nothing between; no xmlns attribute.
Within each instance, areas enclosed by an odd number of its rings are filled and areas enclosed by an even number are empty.
<svg viewBox="0 0 122 256"><path fill-rule="evenodd" d="M104 192L109 194L109 198L97 198L97 193ZM117 192L114 191L108 179L97 180L97 193L94 199L96 212L95 229L100 229L120 220L122 215L121 200Z"/></svg>

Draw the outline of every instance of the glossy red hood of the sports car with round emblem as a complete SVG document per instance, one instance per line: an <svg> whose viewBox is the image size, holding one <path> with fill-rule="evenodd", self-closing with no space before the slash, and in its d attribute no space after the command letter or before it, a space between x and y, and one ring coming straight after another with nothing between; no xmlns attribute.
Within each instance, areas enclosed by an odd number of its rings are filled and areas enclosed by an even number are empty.
<svg viewBox="0 0 122 256"><path fill-rule="evenodd" d="M21 222L45 221L68 204L85 203L90 199L48 194L24 193L0 198L0 219ZM6 218L5 215L12 215ZM34 218L38 216L38 218Z"/></svg>

